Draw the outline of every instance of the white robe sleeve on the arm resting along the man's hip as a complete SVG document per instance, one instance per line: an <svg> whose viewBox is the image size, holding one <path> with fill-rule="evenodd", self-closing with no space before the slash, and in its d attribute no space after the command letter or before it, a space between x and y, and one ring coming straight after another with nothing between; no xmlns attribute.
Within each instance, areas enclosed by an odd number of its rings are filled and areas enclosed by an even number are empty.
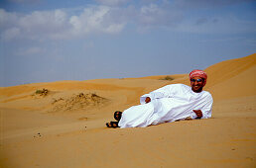
<svg viewBox="0 0 256 168"><path fill-rule="evenodd" d="M145 95L141 96L140 103L145 104L145 100L147 97L150 97L151 100L154 100L154 99L172 97L172 95L174 95L173 86L167 85L167 86L159 88L153 92L150 92L149 94L145 94Z"/></svg>

